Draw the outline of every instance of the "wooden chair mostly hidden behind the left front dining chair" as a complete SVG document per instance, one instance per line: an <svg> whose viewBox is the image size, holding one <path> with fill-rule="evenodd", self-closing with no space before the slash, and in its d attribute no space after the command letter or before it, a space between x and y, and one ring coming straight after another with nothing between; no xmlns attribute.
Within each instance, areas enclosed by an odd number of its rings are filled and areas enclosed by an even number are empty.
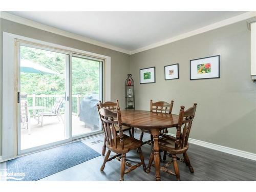
<svg viewBox="0 0 256 192"><path fill-rule="evenodd" d="M100 108L105 108L108 110L111 110L113 112L117 112L117 108L119 108L119 102L118 99L116 100L116 102L112 102L112 101L106 101L104 103L102 103L101 101L99 101L99 106ZM134 136L134 128L133 127L129 127L129 126L122 126L122 130L124 131L129 131L129 134L131 137ZM131 132L132 130L132 132ZM116 125L116 132L119 132L119 127ZM106 152L106 138L104 138L104 143L103 143L103 147L102 147L102 152L101 154L104 156L105 152Z"/></svg>

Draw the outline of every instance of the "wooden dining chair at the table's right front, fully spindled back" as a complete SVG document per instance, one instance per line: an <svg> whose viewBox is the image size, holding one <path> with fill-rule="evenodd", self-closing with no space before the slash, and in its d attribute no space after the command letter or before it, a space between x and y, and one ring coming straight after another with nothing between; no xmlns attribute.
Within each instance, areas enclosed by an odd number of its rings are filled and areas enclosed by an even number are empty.
<svg viewBox="0 0 256 192"><path fill-rule="evenodd" d="M162 170L165 173L168 173L170 175L175 175L177 181L180 181L180 172L179 172L179 166L177 163L177 160L181 160L181 162L184 162L190 171L190 173L194 173L194 169L189 161L187 150L188 150L188 137L191 130L191 125L195 117L196 109L197 109L197 103L194 103L194 105L189 108L188 110L184 111L184 106L180 107L180 114L179 114L179 120L177 125L177 131L176 131L176 137L170 136L170 135L163 135L159 140L159 149L162 151L167 151L170 153L172 160L165 164L165 166L161 167L160 170ZM181 129L182 125L183 130ZM177 157L177 155L183 154L184 159L180 159ZM148 163L147 167L147 173L150 172L152 162L154 160L154 153L151 153L150 161ZM170 169L167 169L171 164L174 164L174 172Z"/></svg>

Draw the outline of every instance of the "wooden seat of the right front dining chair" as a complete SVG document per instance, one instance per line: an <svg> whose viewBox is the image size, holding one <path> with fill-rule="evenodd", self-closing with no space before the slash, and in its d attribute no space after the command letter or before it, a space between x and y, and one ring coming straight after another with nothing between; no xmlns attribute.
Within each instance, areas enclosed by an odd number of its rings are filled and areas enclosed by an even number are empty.
<svg viewBox="0 0 256 192"><path fill-rule="evenodd" d="M175 140L176 138L170 135L163 135L159 140L159 148L160 150L163 151L168 151L169 153L172 154L181 154L187 151L188 149L188 144L181 148L179 145L177 149L175 149Z"/></svg>

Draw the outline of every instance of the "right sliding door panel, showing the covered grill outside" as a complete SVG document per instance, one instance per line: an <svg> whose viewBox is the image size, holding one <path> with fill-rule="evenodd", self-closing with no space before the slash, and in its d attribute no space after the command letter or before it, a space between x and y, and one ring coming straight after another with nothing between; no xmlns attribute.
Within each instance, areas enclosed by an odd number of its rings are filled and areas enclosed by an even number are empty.
<svg viewBox="0 0 256 192"><path fill-rule="evenodd" d="M101 131L97 108L102 100L103 60L72 56L72 135L82 137Z"/></svg>

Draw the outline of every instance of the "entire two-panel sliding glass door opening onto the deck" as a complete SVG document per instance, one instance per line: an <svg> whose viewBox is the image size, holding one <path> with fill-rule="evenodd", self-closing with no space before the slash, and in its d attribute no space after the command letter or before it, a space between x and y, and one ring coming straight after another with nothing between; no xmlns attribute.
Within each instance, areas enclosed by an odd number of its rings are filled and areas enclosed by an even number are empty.
<svg viewBox="0 0 256 192"><path fill-rule="evenodd" d="M102 131L104 60L17 42L18 154Z"/></svg>

